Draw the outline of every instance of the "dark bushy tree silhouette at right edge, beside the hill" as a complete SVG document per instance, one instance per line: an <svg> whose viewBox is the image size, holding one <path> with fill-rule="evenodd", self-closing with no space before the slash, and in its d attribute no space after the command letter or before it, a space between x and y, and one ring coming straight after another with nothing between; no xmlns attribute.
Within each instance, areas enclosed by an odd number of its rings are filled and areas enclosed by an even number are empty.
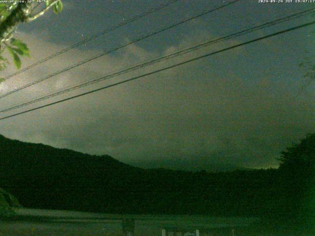
<svg viewBox="0 0 315 236"><path fill-rule="evenodd" d="M315 133L282 152L279 171L288 196L287 209L299 217L315 213Z"/></svg>

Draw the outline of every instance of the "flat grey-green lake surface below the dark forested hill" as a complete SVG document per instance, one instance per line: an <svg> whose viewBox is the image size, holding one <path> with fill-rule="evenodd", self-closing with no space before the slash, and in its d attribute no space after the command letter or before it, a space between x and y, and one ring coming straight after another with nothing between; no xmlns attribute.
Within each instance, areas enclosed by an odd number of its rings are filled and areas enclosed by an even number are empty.
<svg viewBox="0 0 315 236"><path fill-rule="evenodd" d="M256 220L198 215L100 214L27 208L16 211L21 218L0 221L0 236L126 236L128 232L133 232L134 236L162 236L163 233L166 236L190 236L192 233L197 234L196 229L200 236L204 236L204 232L209 229L221 230L223 235L231 236L232 230L237 235L237 227L249 225Z"/></svg>

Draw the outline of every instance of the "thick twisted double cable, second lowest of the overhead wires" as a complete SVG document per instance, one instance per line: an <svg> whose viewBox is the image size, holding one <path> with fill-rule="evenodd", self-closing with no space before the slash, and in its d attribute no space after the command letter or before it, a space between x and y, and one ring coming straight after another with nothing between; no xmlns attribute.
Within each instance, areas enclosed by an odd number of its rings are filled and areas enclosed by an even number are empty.
<svg viewBox="0 0 315 236"><path fill-rule="evenodd" d="M314 9L312 8L311 10L309 9L309 10L305 10L305 11L302 11L302 12L294 13L294 14L291 14L289 16L286 16L286 17L283 17L283 18L280 18L280 19L276 19L276 20L273 20L273 21L270 21L270 22L267 22L267 23L263 23L263 24L260 24L258 26L255 26L255 27L252 27L252 28L249 28L249 29L244 29L244 30L241 30L241 31L238 31L238 32L226 35L226 36L222 36L222 37L219 37L219 38L211 39L211 40L208 40L206 42L199 43L199 44L196 44L194 46L190 46L188 48L182 49L182 50L177 51L175 53L168 54L166 56L159 57L157 59L152 59L152 60L149 60L149 61L146 61L146 62L142 62L142 63L139 63L137 65L133 65L131 67L128 67L128 68L123 69L123 70L120 70L118 72L114 72L112 74L103 76L101 78L97 78L97 79L94 79L94 80L91 80L91 81L88 81L88 82L85 82L85 83L81 83L79 85L70 86L70 87L62 89L60 91L56 91L54 93L49 93L49 94L46 94L46 95L41 96L39 98L32 99L31 101L28 101L28 102L22 102L22 103L19 103L19 104L15 104L15 105L13 105L13 106L11 106L9 108L5 108L5 109L1 110L0 113L8 112L8 111L15 110L15 109L18 109L18 108L21 108L21 107L25 107L27 105L31 105L33 103L36 103L36 102L39 102L39 101L43 101L43 100L46 100L46 99L51 98L51 97L55 97L55 96L61 95L61 94L66 93L66 92L70 92L70 91L75 90L75 89L80 89L80 88L83 88L83 87L86 87L86 86L89 86L89 85L92 85L92 84L95 84L95 83L98 83L98 82L101 82L101 81L104 81L104 80L107 80L107 79L110 79L110 78L113 78L113 77L116 77L116 76L120 76L120 75L126 74L126 73L128 73L130 71L134 71L134 70L137 70L139 68L143 68L145 66L149 66L149 65L158 63L160 61L164 61L166 59L172 59L174 57L178 57L178 56L181 56L183 54L187 54L189 52L198 50L200 48L204 48L204 47L207 47L209 45L212 45L212 44L224 41L224 40L228 40L228 39L231 39L231 38L234 38L234 37L237 37L237 36L241 36L241 35L253 32L253 31L258 30L258 29L264 29L264 28L267 28L267 27L271 27L273 25L277 25L277 24L286 22L288 20L296 19L297 17L305 16L305 15L313 13L313 12L314 12Z"/></svg>

